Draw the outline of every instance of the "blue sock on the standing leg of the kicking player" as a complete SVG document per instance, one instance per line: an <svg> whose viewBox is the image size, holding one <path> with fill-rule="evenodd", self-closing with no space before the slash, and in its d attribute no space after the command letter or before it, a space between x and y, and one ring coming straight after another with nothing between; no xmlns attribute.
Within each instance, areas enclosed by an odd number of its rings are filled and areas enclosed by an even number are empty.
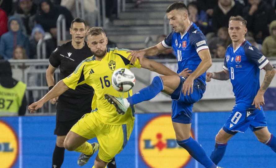
<svg viewBox="0 0 276 168"><path fill-rule="evenodd" d="M192 157L194 157L195 160L197 160L206 168L216 168L216 165L207 156L206 152L201 147L201 145L192 137L190 137L187 140L177 141L177 144L186 149L189 152L189 154Z"/></svg>

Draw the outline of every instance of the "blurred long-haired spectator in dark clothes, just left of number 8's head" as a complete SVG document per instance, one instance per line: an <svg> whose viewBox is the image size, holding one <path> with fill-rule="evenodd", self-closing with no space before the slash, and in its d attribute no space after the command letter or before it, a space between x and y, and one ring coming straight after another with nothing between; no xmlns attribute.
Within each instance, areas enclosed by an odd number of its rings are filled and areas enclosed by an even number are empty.
<svg viewBox="0 0 276 168"><path fill-rule="evenodd" d="M219 28L217 32L217 36L211 37L210 40L208 40L208 46L211 53L211 56L213 58L216 57L216 49L218 46L222 45L225 48L231 43L231 39L228 34L228 28L221 27Z"/></svg>

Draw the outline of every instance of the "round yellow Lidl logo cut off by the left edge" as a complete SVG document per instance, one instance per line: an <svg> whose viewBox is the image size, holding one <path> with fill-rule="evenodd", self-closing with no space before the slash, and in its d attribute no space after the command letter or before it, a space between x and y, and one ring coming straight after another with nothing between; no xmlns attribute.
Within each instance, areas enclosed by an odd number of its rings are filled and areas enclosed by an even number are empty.
<svg viewBox="0 0 276 168"><path fill-rule="evenodd" d="M13 129L1 120L0 132L0 163L2 168L9 168L18 155L18 140Z"/></svg>

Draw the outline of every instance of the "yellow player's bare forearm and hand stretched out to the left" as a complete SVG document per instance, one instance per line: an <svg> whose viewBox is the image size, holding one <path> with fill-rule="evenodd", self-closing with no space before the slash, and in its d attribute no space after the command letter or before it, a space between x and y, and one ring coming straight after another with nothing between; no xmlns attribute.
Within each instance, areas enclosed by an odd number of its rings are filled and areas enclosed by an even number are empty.
<svg viewBox="0 0 276 168"><path fill-rule="evenodd" d="M63 82L63 80L60 80L44 97L31 104L28 107L28 110L30 110L30 113L33 113L34 111L40 109L48 100L60 96L68 89L69 87Z"/></svg>

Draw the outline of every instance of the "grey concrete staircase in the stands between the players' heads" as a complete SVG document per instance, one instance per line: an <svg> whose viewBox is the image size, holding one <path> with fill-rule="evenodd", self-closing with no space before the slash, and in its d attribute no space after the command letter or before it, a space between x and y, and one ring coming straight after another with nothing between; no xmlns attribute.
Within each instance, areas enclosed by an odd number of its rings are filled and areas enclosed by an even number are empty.
<svg viewBox="0 0 276 168"><path fill-rule="evenodd" d="M163 18L167 7L175 0L143 0L138 8L135 3L126 3L126 11L105 27L109 40L117 43L118 48L139 50L145 48L145 39L164 33Z"/></svg>

